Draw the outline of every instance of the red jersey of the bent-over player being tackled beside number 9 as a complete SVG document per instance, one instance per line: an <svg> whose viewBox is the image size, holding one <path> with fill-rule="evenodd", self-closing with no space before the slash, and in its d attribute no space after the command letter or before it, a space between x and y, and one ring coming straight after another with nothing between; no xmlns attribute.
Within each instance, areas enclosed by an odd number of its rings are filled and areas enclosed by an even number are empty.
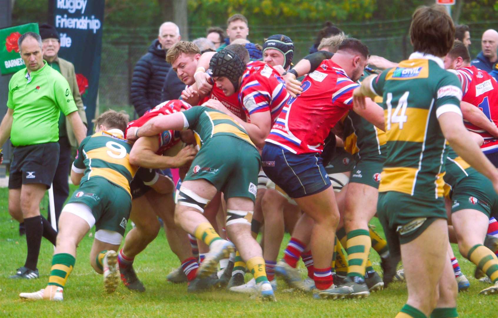
<svg viewBox="0 0 498 318"><path fill-rule="evenodd" d="M149 119L156 116L174 114L191 107L192 106L190 106L190 104L178 99L162 102L156 107L145 112L142 117L129 122L126 127L126 132L130 127L142 127L143 124L145 124ZM124 133L124 136L126 136L126 132ZM158 134L157 137L159 138L159 150L156 152L157 155L162 155L164 151L175 146L180 141L180 135L178 132L175 133L174 130L163 131L161 134Z"/></svg>

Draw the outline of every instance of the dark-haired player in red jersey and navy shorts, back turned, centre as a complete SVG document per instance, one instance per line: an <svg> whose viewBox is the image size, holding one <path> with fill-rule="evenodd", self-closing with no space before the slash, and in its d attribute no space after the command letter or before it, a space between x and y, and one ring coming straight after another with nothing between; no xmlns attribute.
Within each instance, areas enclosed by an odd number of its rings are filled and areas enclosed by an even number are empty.
<svg viewBox="0 0 498 318"><path fill-rule="evenodd" d="M360 40L344 40L330 60L303 79L301 94L284 105L261 154L266 175L315 221L311 240L308 227L296 225L286 254L298 259L311 243L316 297L336 299L353 293L349 286L336 288L333 284L330 264L339 210L320 155L331 129L353 109L353 90L359 86L355 81L363 75L368 55ZM370 101L367 109L371 116L366 110L358 113L383 128L381 108ZM275 273L290 283L300 280L285 257Z"/></svg>

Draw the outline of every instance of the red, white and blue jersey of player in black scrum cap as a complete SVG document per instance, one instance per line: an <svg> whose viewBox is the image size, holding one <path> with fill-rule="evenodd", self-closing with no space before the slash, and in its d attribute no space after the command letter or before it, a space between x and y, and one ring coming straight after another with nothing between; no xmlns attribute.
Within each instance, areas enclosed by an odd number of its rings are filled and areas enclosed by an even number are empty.
<svg viewBox="0 0 498 318"><path fill-rule="evenodd" d="M273 67L261 61L247 64L242 75L239 103L248 122L250 115L269 111L271 123L274 123L289 96L285 81Z"/></svg>

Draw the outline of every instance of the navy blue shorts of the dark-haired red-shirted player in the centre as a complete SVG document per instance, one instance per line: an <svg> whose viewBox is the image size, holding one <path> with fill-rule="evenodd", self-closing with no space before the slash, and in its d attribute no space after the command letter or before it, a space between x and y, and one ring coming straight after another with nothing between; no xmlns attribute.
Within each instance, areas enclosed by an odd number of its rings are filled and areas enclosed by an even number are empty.
<svg viewBox="0 0 498 318"><path fill-rule="evenodd" d="M315 194L331 183L319 154L295 155L266 143L261 153L264 173L291 198Z"/></svg>

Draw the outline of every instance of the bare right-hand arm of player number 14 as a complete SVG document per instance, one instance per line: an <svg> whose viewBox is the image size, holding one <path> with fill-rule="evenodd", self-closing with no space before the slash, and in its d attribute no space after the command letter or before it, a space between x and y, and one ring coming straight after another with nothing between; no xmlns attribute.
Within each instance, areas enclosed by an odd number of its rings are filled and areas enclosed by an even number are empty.
<svg viewBox="0 0 498 318"><path fill-rule="evenodd" d="M474 142L460 114L447 112L438 117L444 137L455 152L479 172L488 177L498 192L498 170Z"/></svg>

